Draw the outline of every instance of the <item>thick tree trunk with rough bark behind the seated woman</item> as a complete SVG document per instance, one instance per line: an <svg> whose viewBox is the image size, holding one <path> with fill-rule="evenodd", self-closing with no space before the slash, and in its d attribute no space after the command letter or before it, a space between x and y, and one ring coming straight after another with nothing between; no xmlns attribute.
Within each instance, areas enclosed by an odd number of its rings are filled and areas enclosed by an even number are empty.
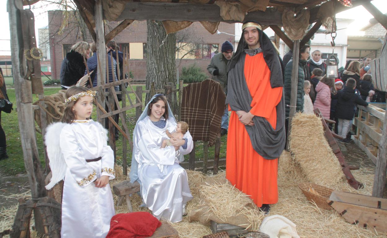
<svg viewBox="0 0 387 238"><path fill-rule="evenodd" d="M151 82L155 83L155 89L164 89L167 82L176 85L175 54L176 33L167 35L161 22L147 20L147 90L151 87ZM173 112L176 114L178 111L176 93L173 95ZM147 93L145 102L147 103L152 96Z"/></svg>

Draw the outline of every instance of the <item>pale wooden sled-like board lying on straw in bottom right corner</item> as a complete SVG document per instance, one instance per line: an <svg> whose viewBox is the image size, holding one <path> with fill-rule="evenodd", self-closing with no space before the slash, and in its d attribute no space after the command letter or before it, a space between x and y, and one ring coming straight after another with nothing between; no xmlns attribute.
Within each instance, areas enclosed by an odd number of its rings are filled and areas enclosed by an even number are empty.
<svg viewBox="0 0 387 238"><path fill-rule="evenodd" d="M387 232L387 199L333 191L327 202L349 223Z"/></svg>

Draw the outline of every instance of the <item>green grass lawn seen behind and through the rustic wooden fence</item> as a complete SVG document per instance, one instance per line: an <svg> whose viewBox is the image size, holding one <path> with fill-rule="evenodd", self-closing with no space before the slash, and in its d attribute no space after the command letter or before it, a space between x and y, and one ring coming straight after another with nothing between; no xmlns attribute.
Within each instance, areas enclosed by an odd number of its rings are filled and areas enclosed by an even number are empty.
<svg viewBox="0 0 387 238"><path fill-rule="evenodd" d="M143 90L145 90L145 86L142 86ZM135 87L134 87L135 89ZM59 88L45 88L45 95L52 95L57 93ZM128 88L130 90L130 88ZM19 132L19 122L16 112L16 100L15 100L15 89L7 89L7 94L12 103L14 103L14 110L11 113L1 114L1 125L5 132L5 137L7 140L7 152L9 155L9 159L0 160L0 170L3 174L13 176L16 174L24 174L26 170L24 169L24 159L23 159L23 151L21 146L20 132ZM145 93L142 95L142 101L145 101ZM133 103L135 103L135 95L130 94L130 98ZM36 95L33 95L33 101L38 100ZM129 102L127 101L127 105ZM128 126L129 134L133 134L134 126L135 126L135 108L128 110L126 113L126 123ZM92 114L92 118L96 120L96 109L94 108L94 112ZM177 117L176 117L177 118ZM120 120L120 126L122 125ZM36 130L40 131L38 125L35 123ZM132 136L131 136L132 138ZM220 158L226 157L226 136L221 137L221 151ZM38 144L38 152L39 159L41 165L44 169L45 167L45 159L44 159L44 150L43 150L43 139L40 133L36 133L36 140ZM209 159L214 158L214 146L209 147L208 153ZM132 158L132 152L130 151L130 146L127 144L127 164L130 166ZM203 142L196 142L196 151L195 151L195 160L199 161L203 158ZM116 159L118 164L122 164L122 135L116 141ZM185 155L185 161L188 161L188 155Z"/></svg>

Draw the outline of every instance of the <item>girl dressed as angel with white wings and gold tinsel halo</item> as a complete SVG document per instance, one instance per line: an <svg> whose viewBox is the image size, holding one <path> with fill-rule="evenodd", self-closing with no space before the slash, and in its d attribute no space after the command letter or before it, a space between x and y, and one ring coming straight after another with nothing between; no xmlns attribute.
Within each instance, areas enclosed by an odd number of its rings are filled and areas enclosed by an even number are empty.
<svg viewBox="0 0 387 238"><path fill-rule="evenodd" d="M62 122L47 128L45 141L52 178L64 179L61 237L105 237L115 214L109 180L115 178L107 132L90 119L96 92L67 89Z"/></svg>

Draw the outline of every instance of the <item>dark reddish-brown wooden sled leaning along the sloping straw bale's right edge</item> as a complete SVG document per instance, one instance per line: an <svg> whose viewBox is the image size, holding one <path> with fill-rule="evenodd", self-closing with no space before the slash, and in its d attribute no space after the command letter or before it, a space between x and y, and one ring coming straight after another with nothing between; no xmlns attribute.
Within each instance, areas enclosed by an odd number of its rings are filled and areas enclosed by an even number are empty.
<svg viewBox="0 0 387 238"><path fill-rule="evenodd" d="M320 118L321 118L321 122L322 122L322 125L324 127L325 137L327 138L327 141L329 143L329 146L332 148L333 153L336 155L337 159L339 160L339 163L342 167L342 172L344 173L348 183L354 189L363 188L364 187L363 184L356 181L356 179L353 177L353 175L351 173L352 169L358 169L358 168L350 166L347 164L347 162L344 160L344 155L341 153L340 147L339 147L339 145L337 145L337 142L334 138L334 137L336 137L336 138L341 138L341 137L339 135L337 135L336 133L332 132L331 130L329 130L329 127L328 127L327 123L325 122L326 120L328 120L329 122L331 120L324 119L324 116L321 115L321 111L319 108L316 108L314 110L314 113L317 116L320 116ZM332 122L334 123L334 121L332 121Z"/></svg>

